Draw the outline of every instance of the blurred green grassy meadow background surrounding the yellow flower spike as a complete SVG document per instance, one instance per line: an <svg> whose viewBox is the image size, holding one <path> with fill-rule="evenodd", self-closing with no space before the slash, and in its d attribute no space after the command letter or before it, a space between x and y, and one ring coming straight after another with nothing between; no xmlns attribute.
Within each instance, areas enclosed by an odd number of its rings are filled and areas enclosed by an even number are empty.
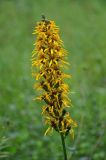
<svg viewBox="0 0 106 160"><path fill-rule="evenodd" d="M32 32L42 13L69 51L78 128L67 137L68 160L106 160L105 0L0 0L0 159L63 160L59 135L44 136L42 104L32 100Z"/></svg>

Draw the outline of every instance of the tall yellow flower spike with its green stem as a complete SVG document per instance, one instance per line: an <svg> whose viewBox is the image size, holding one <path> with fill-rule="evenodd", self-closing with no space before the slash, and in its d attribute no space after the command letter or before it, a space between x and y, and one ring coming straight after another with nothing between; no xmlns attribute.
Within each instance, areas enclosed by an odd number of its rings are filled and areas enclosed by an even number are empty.
<svg viewBox="0 0 106 160"><path fill-rule="evenodd" d="M41 90L37 99L44 101L42 114L48 128L45 135L57 131L61 135L64 158L67 160L65 137L71 134L76 122L70 117L66 110L69 107L69 87L64 82L70 75L63 72L68 64L65 61L67 51L59 36L59 28L54 21L43 19L37 23L34 33L36 35L35 48L32 55L32 67L36 68L32 74L36 81L35 89Z"/></svg>

